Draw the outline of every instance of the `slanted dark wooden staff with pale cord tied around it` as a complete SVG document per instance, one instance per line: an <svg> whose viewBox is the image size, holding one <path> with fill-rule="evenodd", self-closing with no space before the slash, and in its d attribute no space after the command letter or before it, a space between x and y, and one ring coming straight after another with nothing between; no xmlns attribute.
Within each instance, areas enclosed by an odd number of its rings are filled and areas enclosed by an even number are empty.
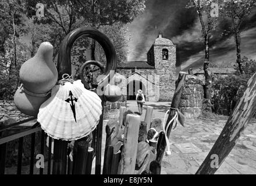
<svg viewBox="0 0 256 186"><path fill-rule="evenodd" d="M186 73L180 72L179 78L176 81L176 90L173 95L172 104L170 105L170 113L169 113L168 119L166 121L166 124L168 124L169 121L172 120L172 118L175 116L175 113L176 113L175 109L177 109L179 106L180 97L182 96L185 79L186 79ZM170 136L170 131L172 130L172 126L173 126L173 122L170 124L168 130L166 131L166 135L167 135L168 139ZM159 145L158 145L159 150L157 152L156 160L157 160L157 162L159 162L159 164L161 164L162 158L163 158L163 153L165 152L165 148L166 148L166 141L165 141L164 135L162 135L162 138L159 138L158 141L159 141Z"/></svg>

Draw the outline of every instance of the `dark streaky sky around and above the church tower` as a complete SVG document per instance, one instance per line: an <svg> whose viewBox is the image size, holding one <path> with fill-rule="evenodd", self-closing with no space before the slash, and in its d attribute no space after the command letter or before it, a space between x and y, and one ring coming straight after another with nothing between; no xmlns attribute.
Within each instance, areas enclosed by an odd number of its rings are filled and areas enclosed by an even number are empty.
<svg viewBox="0 0 256 186"><path fill-rule="evenodd" d="M204 45L201 40L201 25L194 9L186 9L189 0L147 0L145 12L129 27L128 60L147 60L146 53L162 31L163 37L177 45L177 64L182 69L201 66L204 60ZM220 19L211 41L211 61L232 66L236 62L235 44L232 35L222 36L230 22ZM243 24L242 55L256 59L256 13L253 12Z"/></svg>

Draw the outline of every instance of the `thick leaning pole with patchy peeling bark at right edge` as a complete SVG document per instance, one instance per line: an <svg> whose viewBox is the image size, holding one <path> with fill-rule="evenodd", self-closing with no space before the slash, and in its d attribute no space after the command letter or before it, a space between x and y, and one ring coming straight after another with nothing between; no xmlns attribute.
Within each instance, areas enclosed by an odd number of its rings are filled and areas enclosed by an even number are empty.
<svg viewBox="0 0 256 186"><path fill-rule="evenodd" d="M214 174L224 162L247 127L256 111L256 73L250 78L247 89L229 119L218 140L215 142L207 158L201 164L196 174ZM217 164L216 164L217 163ZM219 166L218 166L219 165Z"/></svg>

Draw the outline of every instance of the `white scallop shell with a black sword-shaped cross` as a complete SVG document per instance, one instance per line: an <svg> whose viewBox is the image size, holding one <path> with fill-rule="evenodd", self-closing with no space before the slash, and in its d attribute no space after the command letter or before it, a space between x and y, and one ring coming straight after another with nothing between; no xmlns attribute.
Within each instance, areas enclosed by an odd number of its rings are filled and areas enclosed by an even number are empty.
<svg viewBox="0 0 256 186"><path fill-rule="evenodd" d="M86 90L81 80L52 89L51 98L42 103L37 121L50 137L77 140L95 129L102 114L101 99Z"/></svg>

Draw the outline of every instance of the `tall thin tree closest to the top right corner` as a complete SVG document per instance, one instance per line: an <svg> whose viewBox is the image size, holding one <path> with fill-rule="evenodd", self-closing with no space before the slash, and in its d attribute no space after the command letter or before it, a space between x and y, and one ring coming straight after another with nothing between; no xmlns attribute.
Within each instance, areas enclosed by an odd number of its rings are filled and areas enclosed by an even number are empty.
<svg viewBox="0 0 256 186"><path fill-rule="evenodd" d="M241 74L244 74L242 59L241 59L241 25L243 20L250 15L251 10L255 8L255 0L222 0L220 8L224 17L229 17L232 21L232 33L236 42L237 64Z"/></svg>

